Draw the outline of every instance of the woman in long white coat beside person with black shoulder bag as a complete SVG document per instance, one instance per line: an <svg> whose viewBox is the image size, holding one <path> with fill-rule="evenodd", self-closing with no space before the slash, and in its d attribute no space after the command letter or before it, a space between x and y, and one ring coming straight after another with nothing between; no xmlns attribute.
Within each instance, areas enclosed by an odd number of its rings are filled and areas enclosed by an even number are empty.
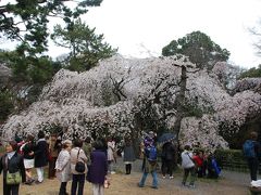
<svg viewBox="0 0 261 195"><path fill-rule="evenodd" d="M66 140L62 144L62 151L59 153L55 170L57 178L61 182L59 195L67 195L66 185L71 180L71 156L70 151L72 147L72 141Z"/></svg>

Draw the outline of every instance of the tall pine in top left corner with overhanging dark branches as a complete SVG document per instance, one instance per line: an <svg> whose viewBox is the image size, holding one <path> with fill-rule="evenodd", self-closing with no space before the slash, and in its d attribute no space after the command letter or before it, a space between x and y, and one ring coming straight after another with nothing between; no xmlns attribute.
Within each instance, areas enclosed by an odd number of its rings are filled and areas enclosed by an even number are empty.
<svg viewBox="0 0 261 195"><path fill-rule="evenodd" d="M50 60L44 54L48 51L49 21L55 17L71 23L85 14L87 6L100 5L101 1L16 0L0 6L0 38L17 41L11 65L16 78L47 81L53 75Z"/></svg>

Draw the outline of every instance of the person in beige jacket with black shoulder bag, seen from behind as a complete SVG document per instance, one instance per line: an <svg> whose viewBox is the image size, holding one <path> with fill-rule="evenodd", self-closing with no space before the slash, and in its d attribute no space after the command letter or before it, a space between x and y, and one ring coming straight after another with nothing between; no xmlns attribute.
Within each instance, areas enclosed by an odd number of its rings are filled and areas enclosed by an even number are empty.
<svg viewBox="0 0 261 195"><path fill-rule="evenodd" d="M75 140L74 148L71 151L71 171L73 173L73 182L71 187L71 195L76 195L76 191L78 188L77 195L84 194L84 184L85 184L85 174L87 172L87 157L85 155L84 150L82 150L83 141ZM75 165L78 161L83 161L85 164L85 171L77 172L75 170Z"/></svg>

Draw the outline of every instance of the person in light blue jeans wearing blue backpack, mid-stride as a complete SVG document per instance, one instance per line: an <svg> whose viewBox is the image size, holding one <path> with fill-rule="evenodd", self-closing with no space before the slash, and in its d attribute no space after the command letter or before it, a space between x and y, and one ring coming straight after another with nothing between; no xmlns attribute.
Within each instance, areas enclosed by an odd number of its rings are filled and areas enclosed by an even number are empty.
<svg viewBox="0 0 261 195"><path fill-rule="evenodd" d="M151 138L146 138L145 140L145 166L144 166L144 174L138 183L139 187L144 187L145 181L147 179L148 173L151 173L152 188L158 188L158 179L157 179L157 148L154 145L154 141Z"/></svg>

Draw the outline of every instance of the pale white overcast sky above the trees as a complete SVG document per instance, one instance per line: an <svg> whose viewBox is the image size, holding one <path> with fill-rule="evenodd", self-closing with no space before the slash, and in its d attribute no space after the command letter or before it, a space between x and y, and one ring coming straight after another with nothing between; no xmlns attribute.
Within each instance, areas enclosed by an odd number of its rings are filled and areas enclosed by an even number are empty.
<svg viewBox="0 0 261 195"><path fill-rule="evenodd" d="M200 30L231 52L229 61L250 68L261 64L248 30L258 26L260 9L261 0L103 0L84 21L126 56L159 56L172 40ZM49 54L63 52L51 47Z"/></svg>

